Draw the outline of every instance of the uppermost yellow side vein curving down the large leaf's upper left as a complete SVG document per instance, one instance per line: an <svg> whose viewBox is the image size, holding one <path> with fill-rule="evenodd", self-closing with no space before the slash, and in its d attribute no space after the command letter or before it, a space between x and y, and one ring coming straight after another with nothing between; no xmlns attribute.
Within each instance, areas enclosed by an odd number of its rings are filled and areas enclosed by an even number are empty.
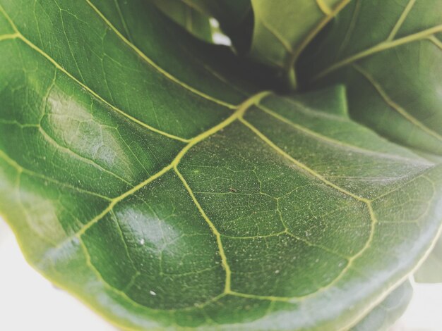
<svg viewBox="0 0 442 331"><path fill-rule="evenodd" d="M210 96L208 94L205 94L201 91L199 91L198 89L195 89L194 87L191 87L190 85L187 85L185 82L181 82L181 80L179 80L177 77L174 77L173 75L171 75L170 73L168 73L166 70L164 70L163 68L161 68L159 65L157 65L154 61L152 61L152 59L150 59L148 56L146 56L143 51L141 51L140 49L138 49L137 46L135 46L134 44L132 44L128 39L126 39L126 37L124 37L124 35L121 35L121 32L119 32L119 30L117 30L116 27L114 27L114 25L112 25L112 23L110 23L110 21L103 15L103 13L101 13L101 11L95 7L94 4L92 4L90 2L90 0L85 0L88 5L95 11L95 13L97 13L97 15L100 16L100 18L102 18L102 20L104 21L104 23L106 23L108 25L108 27L126 44L128 45L131 49L133 49L133 51L135 51L135 53L140 56L146 63L148 63L149 65L151 65L153 68L155 68L155 70L157 70L159 73L161 73L162 75L164 75L165 77L167 77L169 80L172 80L172 82L177 83L178 85L181 85L181 87L184 87L185 89L188 89L190 92L192 92L193 94L197 94L198 96L201 96L204 99L207 99L209 101L213 101L215 104L220 104L221 106L225 106L227 108L230 109L235 109L237 108L237 106L229 104L225 101L222 101L220 99L216 99L213 96Z"/></svg>

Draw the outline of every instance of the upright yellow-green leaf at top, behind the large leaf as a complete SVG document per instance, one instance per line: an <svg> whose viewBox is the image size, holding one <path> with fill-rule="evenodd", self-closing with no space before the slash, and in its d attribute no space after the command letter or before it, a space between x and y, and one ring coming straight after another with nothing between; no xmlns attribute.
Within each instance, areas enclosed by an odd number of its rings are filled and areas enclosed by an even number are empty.
<svg viewBox="0 0 442 331"><path fill-rule="evenodd" d="M251 0L255 23L251 56L296 85L294 63L319 31L350 0Z"/></svg>

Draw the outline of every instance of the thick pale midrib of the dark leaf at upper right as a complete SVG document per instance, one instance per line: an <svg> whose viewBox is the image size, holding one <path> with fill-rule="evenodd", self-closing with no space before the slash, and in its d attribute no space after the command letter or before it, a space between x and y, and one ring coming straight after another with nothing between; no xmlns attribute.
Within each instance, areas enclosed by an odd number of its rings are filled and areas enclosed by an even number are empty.
<svg viewBox="0 0 442 331"><path fill-rule="evenodd" d="M321 73L318 73L317 75L312 77L311 82L316 82L317 80L325 77L326 75L332 73L333 71L338 70L339 68L342 68L345 65L350 65L350 64L354 63L355 61L358 61L358 60L365 58L367 56L371 56L371 55L379 53L381 51L386 51L386 50L391 49L396 46L408 44L410 42L416 42L421 39L426 39L427 37L434 35L437 32L442 32L442 25L436 25L435 27L431 27L430 29L422 30L421 32L417 32L412 35L408 35L406 37L395 39L393 41L381 42L379 44L376 44L375 46L372 46L369 49L366 49L365 51L361 51L361 52L354 54L352 56L349 56L348 58L345 58L341 61L333 63L328 68L322 70Z"/></svg>

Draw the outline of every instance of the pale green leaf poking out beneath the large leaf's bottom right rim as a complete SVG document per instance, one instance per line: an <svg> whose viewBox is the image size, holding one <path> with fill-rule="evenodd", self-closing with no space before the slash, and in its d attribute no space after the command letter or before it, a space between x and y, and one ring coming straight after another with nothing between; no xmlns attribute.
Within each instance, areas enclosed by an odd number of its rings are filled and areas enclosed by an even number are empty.
<svg viewBox="0 0 442 331"><path fill-rule="evenodd" d="M407 281L391 292L361 322L352 327L352 331L388 330L405 312L412 295L413 287L410 281Z"/></svg>

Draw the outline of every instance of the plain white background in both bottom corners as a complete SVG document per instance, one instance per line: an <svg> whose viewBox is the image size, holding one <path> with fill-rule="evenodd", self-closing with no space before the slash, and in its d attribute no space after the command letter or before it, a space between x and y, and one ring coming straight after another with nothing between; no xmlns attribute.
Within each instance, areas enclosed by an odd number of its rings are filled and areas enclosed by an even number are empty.
<svg viewBox="0 0 442 331"><path fill-rule="evenodd" d="M0 218L1 331L116 331L25 262ZM412 302L391 331L442 331L442 285L416 285Z"/></svg>

